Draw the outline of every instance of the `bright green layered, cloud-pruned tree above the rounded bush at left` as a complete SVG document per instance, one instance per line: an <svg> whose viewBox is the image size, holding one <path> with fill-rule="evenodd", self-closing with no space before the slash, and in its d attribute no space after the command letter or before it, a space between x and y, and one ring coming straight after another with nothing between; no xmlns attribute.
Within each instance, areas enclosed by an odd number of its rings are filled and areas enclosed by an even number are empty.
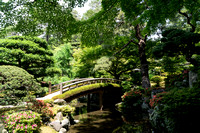
<svg viewBox="0 0 200 133"><path fill-rule="evenodd" d="M42 39L23 36L2 39L0 40L0 51L2 57L0 64L21 67L35 78L58 73L58 70L53 69L53 53L46 41Z"/></svg>

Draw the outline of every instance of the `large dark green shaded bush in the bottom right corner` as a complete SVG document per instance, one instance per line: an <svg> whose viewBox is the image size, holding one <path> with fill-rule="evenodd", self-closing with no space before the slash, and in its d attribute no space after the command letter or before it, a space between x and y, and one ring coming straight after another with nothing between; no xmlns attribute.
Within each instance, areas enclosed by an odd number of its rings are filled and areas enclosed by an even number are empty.
<svg viewBox="0 0 200 133"><path fill-rule="evenodd" d="M163 95L151 114L158 132L196 132L200 120L200 89L175 89Z"/></svg>

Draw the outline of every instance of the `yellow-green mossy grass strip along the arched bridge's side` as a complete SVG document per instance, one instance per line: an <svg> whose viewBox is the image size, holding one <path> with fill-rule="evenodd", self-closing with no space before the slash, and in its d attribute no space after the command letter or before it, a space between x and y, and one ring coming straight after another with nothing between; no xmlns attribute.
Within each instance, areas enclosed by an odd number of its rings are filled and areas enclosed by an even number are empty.
<svg viewBox="0 0 200 133"><path fill-rule="evenodd" d="M89 91L89 90L96 90L96 89L100 89L100 88L106 88L106 87L111 87L111 88L119 88L120 85L118 84L107 84L107 83L97 83L97 84L91 84L91 85L86 85L86 86L81 86L78 88L75 88L73 90L67 91L63 94L54 96L53 99L65 99L67 97L73 96L75 94L81 93L81 92L85 92L85 91Z"/></svg>

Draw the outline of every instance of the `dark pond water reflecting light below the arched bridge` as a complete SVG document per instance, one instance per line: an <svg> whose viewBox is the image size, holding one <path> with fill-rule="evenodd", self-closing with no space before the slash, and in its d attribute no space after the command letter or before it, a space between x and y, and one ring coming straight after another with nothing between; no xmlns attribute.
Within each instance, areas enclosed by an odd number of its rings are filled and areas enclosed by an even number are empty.
<svg viewBox="0 0 200 133"><path fill-rule="evenodd" d="M91 112L87 112L87 104L79 103L73 116L80 122L71 125L68 133L152 133L148 119L128 124L113 107L100 111L98 106L93 105L90 109Z"/></svg>

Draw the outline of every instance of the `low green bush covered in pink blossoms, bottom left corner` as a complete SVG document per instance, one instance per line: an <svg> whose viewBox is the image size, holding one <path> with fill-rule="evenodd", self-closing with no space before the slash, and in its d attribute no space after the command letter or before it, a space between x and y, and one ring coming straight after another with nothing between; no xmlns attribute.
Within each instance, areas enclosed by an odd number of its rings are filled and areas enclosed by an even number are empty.
<svg viewBox="0 0 200 133"><path fill-rule="evenodd" d="M1 116L9 133L39 133L40 115L32 111L7 112Z"/></svg>

